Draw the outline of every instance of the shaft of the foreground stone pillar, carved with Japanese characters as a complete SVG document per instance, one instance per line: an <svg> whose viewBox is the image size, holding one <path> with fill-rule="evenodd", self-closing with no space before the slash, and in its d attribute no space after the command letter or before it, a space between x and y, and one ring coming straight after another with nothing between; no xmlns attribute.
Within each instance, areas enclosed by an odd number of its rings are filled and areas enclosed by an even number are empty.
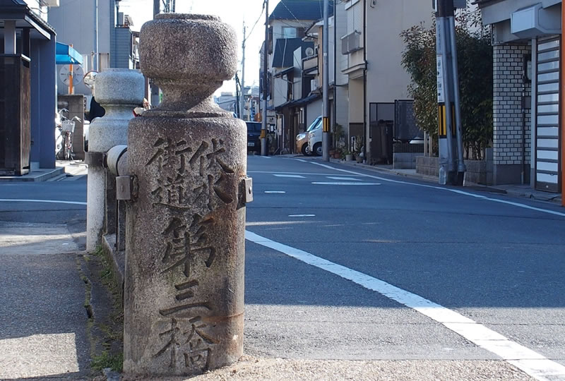
<svg viewBox="0 0 565 381"><path fill-rule="evenodd" d="M124 371L186 375L237 361L244 309L245 208L238 205L246 173L244 128L232 118L138 118L130 137L129 168L139 196L127 212ZM162 165L163 157L155 155L164 137L173 150L190 150ZM189 344L195 327L203 337L193 339L202 346L181 346L176 353L167 347L171 329L180 344ZM205 351L196 368L184 360L192 346Z"/></svg>

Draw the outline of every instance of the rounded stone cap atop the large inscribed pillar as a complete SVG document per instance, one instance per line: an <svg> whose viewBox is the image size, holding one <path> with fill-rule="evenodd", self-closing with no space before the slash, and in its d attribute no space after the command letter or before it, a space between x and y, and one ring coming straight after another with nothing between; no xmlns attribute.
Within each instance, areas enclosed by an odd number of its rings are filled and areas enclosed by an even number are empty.
<svg viewBox="0 0 565 381"><path fill-rule="evenodd" d="M235 31L216 16L161 13L141 27L139 61L163 91L158 109L187 111L233 77Z"/></svg>

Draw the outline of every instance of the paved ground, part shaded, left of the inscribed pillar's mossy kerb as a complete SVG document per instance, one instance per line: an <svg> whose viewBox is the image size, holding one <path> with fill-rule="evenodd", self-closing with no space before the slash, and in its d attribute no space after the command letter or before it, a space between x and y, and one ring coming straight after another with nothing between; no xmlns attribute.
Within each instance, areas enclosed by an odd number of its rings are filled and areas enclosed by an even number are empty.
<svg viewBox="0 0 565 381"><path fill-rule="evenodd" d="M83 377L85 286L64 225L0 222L0 379Z"/></svg>

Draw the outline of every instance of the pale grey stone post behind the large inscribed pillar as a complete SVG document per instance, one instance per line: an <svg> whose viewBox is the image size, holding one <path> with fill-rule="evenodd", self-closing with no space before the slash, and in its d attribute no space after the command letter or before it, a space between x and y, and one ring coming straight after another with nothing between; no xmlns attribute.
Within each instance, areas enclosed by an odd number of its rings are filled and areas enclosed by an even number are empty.
<svg viewBox="0 0 565 381"><path fill-rule="evenodd" d="M107 150L114 145L127 143L129 120L132 110L143 102L145 80L138 71L129 69L106 69L95 79L96 100L105 108L106 114L90 124L89 150L85 155L88 164L88 193L86 211L86 250L94 251L105 233L105 221L113 222L115 201L112 191L113 176L107 179L104 168ZM108 192L109 191L109 192ZM109 200L107 196L109 195ZM115 212L114 212L115 214Z"/></svg>

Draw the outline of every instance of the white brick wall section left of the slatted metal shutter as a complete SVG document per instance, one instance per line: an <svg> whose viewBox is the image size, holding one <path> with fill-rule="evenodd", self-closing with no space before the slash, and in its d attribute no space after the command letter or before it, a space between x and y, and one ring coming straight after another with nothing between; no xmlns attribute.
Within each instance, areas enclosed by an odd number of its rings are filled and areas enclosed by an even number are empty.
<svg viewBox="0 0 565 381"><path fill-rule="evenodd" d="M494 183L519 183L522 157L522 93L524 55L527 45L496 45L494 49L493 160ZM525 85L531 96L530 83ZM531 114L527 104L525 118L525 164L530 164ZM529 168L526 170L529 174Z"/></svg>

